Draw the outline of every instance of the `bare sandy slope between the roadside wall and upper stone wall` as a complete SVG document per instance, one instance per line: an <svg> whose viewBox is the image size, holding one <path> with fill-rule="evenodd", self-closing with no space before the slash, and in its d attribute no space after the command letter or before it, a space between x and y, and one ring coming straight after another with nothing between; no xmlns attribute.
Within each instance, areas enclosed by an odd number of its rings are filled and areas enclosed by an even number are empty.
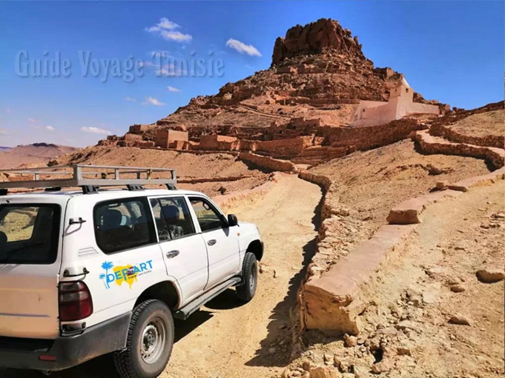
<svg viewBox="0 0 505 378"><path fill-rule="evenodd" d="M327 175L335 182L333 201L348 209L348 219L354 221L359 231L355 242L361 242L386 223L391 208L401 201L428 193L437 181L456 182L489 170L482 159L423 155L414 142L403 140L357 151L310 171Z"/></svg>

